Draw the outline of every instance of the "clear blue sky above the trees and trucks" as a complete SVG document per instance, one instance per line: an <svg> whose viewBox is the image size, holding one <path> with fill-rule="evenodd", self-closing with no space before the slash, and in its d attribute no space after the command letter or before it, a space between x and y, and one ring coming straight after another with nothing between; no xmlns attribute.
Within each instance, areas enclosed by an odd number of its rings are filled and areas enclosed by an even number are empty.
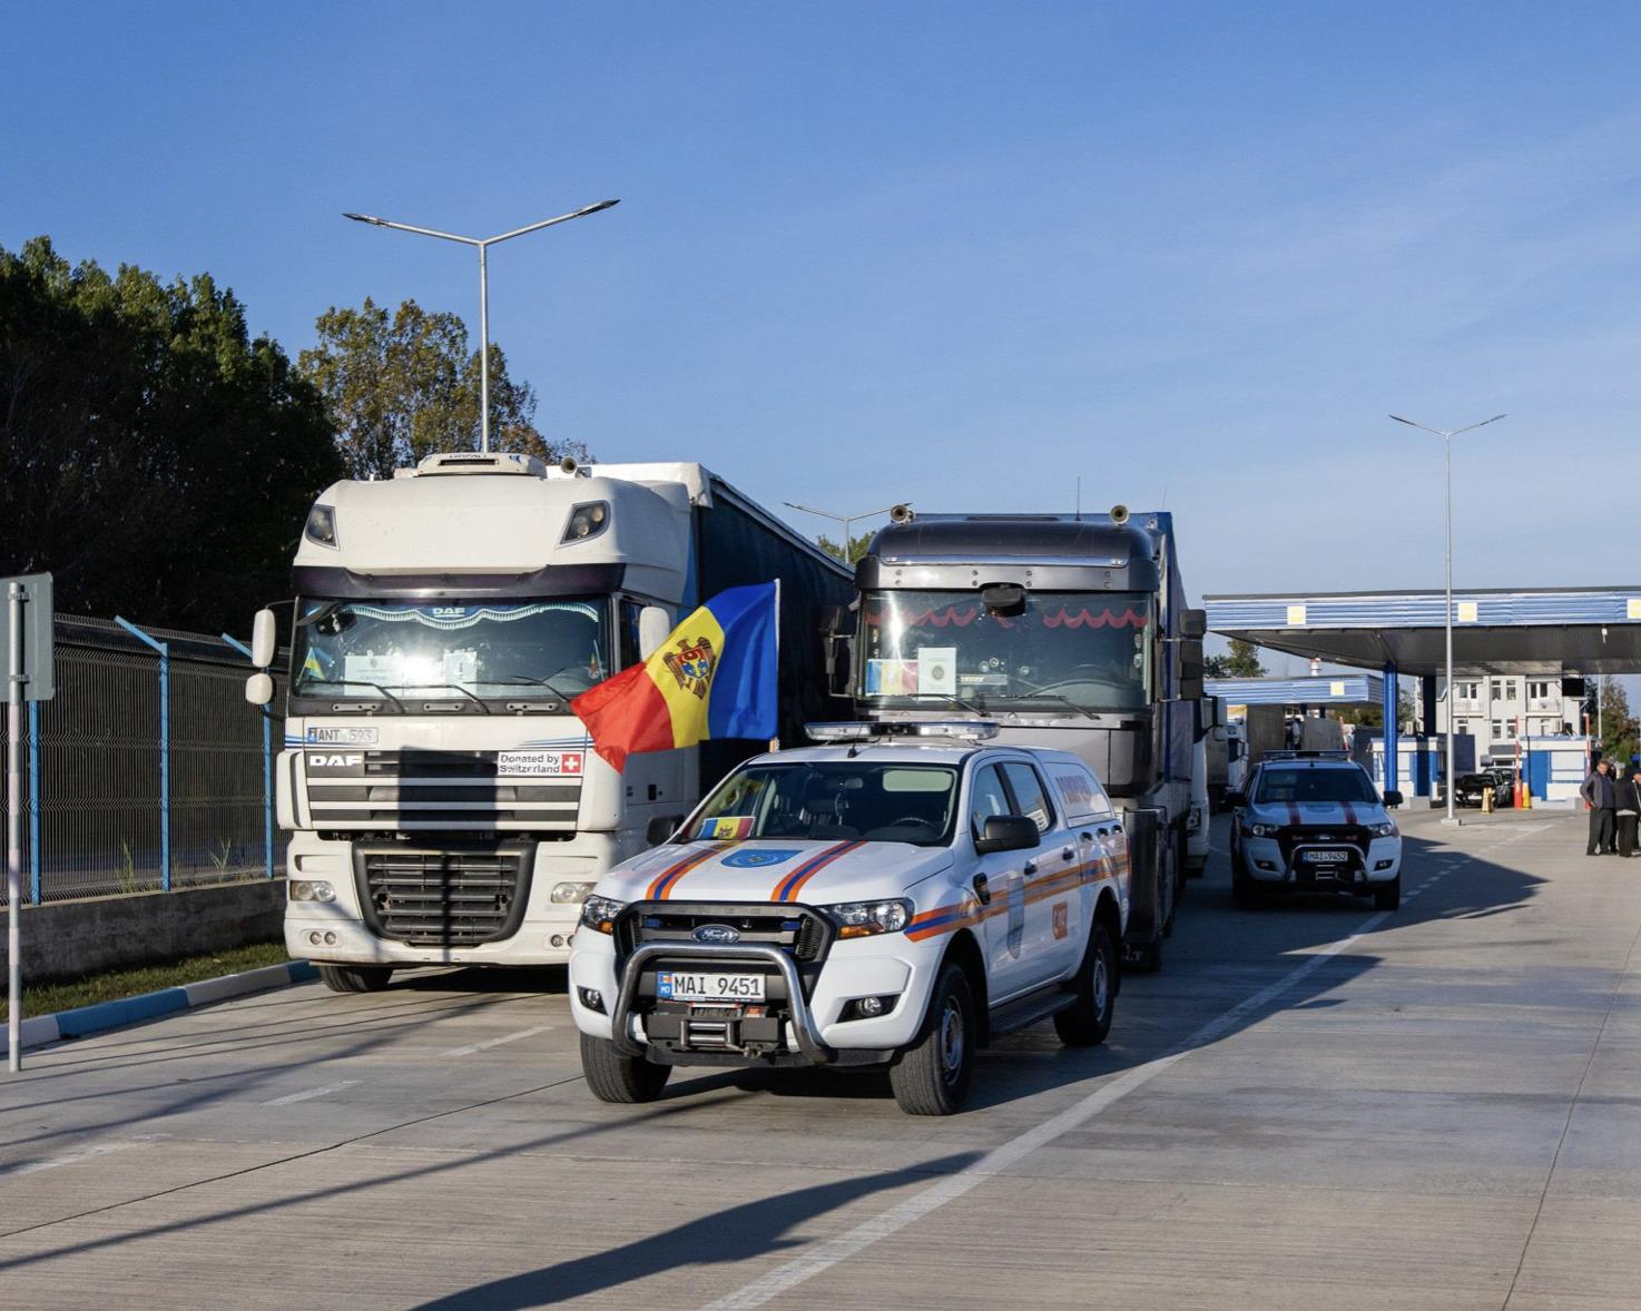
<svg viewBox="0 0 1641 1311"><path fill-rule="evenodd" d="M1175 510L1193 594L1621 582L1641 10L13 3L0 244L292 354L476 313L538 425L766 504ZM824 525L794 515L801 527Z"/></svg>

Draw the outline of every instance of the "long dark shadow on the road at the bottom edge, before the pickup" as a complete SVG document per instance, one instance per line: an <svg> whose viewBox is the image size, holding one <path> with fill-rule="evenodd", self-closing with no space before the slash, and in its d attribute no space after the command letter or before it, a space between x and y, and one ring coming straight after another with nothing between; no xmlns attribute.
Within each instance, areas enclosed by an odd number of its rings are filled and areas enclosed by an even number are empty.
<svg viewBox="0 0 1641 1311"><path fill-rule="evenodd" d="M791 1193L771 1198L755 1198L620 1247L435 1298L422 1303L417 1311L458 1311L458 1308L514 1311L514 1308L553 1306L693 1265L763 1260L812 1244L814 1239L798 1237L794 1231L817 1216L875 1193L930 1183L939 1176L957 1173L976 1157L976 1152L958 1152L903 1170L857 1175L811 1188L794 1188Z"/></svg>

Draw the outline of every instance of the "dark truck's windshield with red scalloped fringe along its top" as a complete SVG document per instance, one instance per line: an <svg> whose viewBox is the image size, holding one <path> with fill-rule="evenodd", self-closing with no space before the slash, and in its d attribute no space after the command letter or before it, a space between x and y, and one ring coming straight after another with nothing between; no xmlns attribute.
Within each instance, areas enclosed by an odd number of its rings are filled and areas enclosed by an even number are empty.
<svg viewBox="0 0 1641 1311"><path fill-rule="evenodd" d="M1017 615L976 592L866 592L860 694L880 704L1145 706L1150 597L1026 592Z"/></svg>

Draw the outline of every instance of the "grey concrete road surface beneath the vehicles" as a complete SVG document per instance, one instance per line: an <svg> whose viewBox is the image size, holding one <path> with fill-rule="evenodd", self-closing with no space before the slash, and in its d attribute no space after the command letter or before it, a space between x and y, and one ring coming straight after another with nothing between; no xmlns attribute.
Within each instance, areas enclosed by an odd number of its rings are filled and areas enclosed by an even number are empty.
<svg viewBox="0 0 1641 1311"><path fill-rule="evenodd" d="M1641 861L1413 815L1405 907L1231 907L1113 1040L581 1086L563 980L294 988L0 1076L16 1308L1641 1308ZM1216 838L1221 845L1224 834Z"/></svg>

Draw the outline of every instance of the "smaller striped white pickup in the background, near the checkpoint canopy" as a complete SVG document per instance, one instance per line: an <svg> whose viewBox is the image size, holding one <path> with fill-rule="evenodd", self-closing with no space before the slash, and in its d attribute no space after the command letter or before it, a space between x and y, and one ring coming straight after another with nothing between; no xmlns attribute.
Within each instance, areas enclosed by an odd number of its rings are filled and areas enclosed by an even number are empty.
<svg viewBox="0 0 1641 1311"><path fill-rule="evenodd" d="M1344 751L1275 751L1242 793L1227 793L1231 894L1237 906L1262 893L1355 893L1380 911L1401 904L1401 830L1367 770Z"/></svg>

